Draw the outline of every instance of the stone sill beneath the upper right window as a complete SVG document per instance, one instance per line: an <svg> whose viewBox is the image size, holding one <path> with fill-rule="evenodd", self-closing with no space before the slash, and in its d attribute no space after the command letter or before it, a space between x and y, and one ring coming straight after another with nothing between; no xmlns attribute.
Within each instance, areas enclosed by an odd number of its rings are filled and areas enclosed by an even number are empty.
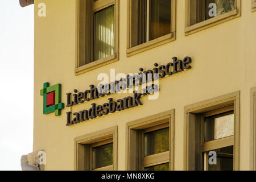
<svg viewBox="0 0 256 182"><path fill-rule="evenodd" d="M237 18L238 16L240 16L240 10L239 9L229 11L228 13L216 16L214 18L205 20L203 22L194 24L194 25L189 26L189 27L185 27L185 35L187 36L187 35L193 34L195 32L204 30L206 28L213 27L216 24L226 22L230 19Z"/></svg>

